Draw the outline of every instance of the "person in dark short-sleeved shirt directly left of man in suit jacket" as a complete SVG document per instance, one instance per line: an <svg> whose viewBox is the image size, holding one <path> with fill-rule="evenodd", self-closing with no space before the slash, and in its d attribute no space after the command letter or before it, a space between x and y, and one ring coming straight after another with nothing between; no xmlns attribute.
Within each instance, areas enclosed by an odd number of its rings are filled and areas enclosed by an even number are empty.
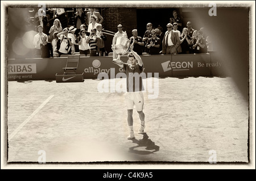
<svg viewBox="0 0 256 181"><path fill-rule="evenodd" d="M159 39L159 37L156 37L155 30L151 31L151 35L152 37L147 40L147 48L149 49L148 54L159 54L161 40Z"/></svg>

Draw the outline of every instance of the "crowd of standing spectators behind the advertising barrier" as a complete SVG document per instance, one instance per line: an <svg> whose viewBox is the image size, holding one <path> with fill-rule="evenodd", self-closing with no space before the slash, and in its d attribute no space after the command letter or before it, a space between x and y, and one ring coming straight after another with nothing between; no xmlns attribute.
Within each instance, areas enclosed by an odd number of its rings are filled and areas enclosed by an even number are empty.
<svg viewBox="0 0 256 181"><path fill-rule="evenodd" d="M60 57L61 54L77 52L86 54L86 56L106 56L109 53L113 53L115 56L114 52L106 52L105 41L107 37L102 31L104 18L100 12L95 11L95 9L76 8L74 10L73 8L53 8L47 10L52 13L46 14L41 7L37 11L40 16L36 22L36 25L39 24L37 26L38 34L34 38L35 57L41 55L45 58L47 54L49 55L48 58L55 58ZM47 20L48 18L50 20ZM66 19L68 19L67 22L65 22ZM163 27L155 28L152 23L147 23L143 36L139 36L138 31L134 29L131 33L135 39L135 52L139 55L142 53L193 54L212 52L212 42L210 36L205 32L205 28L194 30L192 22L187 22L186 26L183 26L181 19L177 11L173 11L170 22L166 22L166 32L163 32ZM52 20L53 25L50 27L49 22ZM127 37L127 33L123 32L122 28L122 24L118 24L116 33L108 33L113 35L108 36L108 39L113 39L112 45L115 44L118 36ZM51 45L43 44L43 35L48 36L47 41L52 45L52 48ZM127 38L130 39L131 37ZM44 48L46 45L48 48ZM56 56L53 56L51 50L53 53L57 53Z"/></svg>

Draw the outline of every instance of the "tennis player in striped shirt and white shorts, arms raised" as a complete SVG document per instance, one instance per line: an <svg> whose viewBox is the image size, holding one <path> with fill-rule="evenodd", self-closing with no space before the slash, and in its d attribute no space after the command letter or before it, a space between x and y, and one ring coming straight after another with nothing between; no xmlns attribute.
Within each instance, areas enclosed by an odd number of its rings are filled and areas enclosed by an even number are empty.
<svg viewBox="0 0 256 181"><path fill-rule="evenodd" d="M141 119L141 128L139 129L139 134L143 134L145 129L145 115L143 112L144 97L142 91L144 90L142 82L143 73L143 62L138 53L134 52L133 45L128 54L130 64L123 63L121 60L114 59L114 64L119 65L126 73L126 85L127 92L125 94L126 106L127 106L127 122L129 126L130 134L127 137L128 140L135 138L133 131L133 108L135 108L139 113L139 118ZM127 61L127 62L129 62ZM138 61L138 63L137 63Z"/></svg>

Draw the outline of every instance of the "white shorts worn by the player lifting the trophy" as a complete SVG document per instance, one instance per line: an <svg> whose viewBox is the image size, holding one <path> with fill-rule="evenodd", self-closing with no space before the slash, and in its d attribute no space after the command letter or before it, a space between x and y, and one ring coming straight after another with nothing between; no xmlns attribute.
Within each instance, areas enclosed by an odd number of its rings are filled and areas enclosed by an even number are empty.
<svg viewBox="0 0 256 181"><path fill-rule="evenodd" d="M133 110L134 105L137 111L143 110L144 96L142 92L126 92L125 101L127 110Z"/></svg>

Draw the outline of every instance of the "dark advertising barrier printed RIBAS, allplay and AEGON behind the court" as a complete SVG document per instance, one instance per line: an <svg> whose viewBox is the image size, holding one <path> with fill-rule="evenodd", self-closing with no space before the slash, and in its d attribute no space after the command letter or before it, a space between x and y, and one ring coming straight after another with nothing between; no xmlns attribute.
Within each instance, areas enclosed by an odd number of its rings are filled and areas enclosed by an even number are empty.
<svg viewBox="0 0 256 181"><path fill-rule="evenodd" d="M219 75L224 66L215 54L177 54L141 56L144 73L147 77L179 77L179 76L209 76ZM85 79L115 78L123 72L122 68L113 64L113 57L80 57L77 74L83 74ZM127 56L121 60L127 62ZM64 73L63 68L67 57L61 58L21 58L9 59L8 81L48 80L56 79L56 74Z"/></svg>

